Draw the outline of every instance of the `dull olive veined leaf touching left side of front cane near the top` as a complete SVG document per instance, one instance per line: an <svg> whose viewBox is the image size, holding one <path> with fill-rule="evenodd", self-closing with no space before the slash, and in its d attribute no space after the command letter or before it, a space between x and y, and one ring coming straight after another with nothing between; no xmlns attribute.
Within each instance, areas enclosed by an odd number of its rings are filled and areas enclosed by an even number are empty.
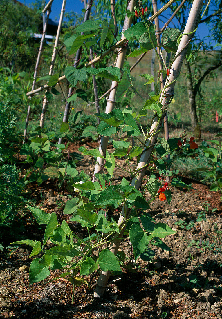
<svg viewBox="0 0 222 319"><path fill-rule="evenodd" d="M176 52L178 48L178 38L182 34L179 29L175 28L165 28L162 37L161 45L167 52L173 51Z"/></svg>

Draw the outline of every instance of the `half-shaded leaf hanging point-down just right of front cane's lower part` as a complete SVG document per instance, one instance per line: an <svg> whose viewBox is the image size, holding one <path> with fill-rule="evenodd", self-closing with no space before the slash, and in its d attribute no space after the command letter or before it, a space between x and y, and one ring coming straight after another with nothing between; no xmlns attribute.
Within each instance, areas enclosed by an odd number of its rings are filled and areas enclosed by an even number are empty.
<svg viewBox="0 0 222 319"><path fill-rule="evenodd" d="M133 224L129 230L129 239L133 246L134 258L136 261L140 254L147 249L149 244L148 236L139 225Z"/></svg>

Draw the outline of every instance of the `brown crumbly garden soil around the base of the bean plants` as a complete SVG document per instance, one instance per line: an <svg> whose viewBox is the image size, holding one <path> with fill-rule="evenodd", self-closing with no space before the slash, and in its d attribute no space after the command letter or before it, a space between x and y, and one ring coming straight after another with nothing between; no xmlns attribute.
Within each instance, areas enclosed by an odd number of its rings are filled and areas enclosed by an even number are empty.
<svg viewBox="0 0 222 319"><path fill-rule="evenodd" d="M72 151L77 150L77 146ZM119 160L121 166L123 160ZM78 170L88 174L88 160L81 161ZM116 170L112 182L119 183L123 174ZM127 178L127 174L125 176ZM166 318L175 319L221 319L222 318L222 205L218 192L197 181L192 183L196 190L172 189L170 208L167 203L156 200L152 203L150 214L156 222L165 222L177 230L175 235L167 236L164 242L174 251L156 251L154 262L137 260L135 272L124 270L116 277L110 277L107 290L101 300L93 298L98 274L87 279L88 286L75 289L74 304L71 304L72 285L64 278L46 283L57 276L54 271L50 277L38 284L29 286L28 269L30 249L19 248L9 256L1 255L0 262L0 317L1 318ZM41 187L30 185L30 194L36 204L48 212L55 211L59 222L69 219L62 211L67 201L67 193L59 195L54 182L47 181ZM41 197L42 194L42 197ZM145 194L149 197L149 193ZM206 221L196 222L198 214L209 204ZM212 212L213 208L217 208ZM113 212L117 218L117 211ZM25 238L41 240L44 228L37 228L33 219L26 226ZM192 226L190 229L182 226ZM176 224L175 224L176 223ZM186 223L186 224L185 224ZM84 236L80 225L69 223L72 230ZM202 246L200 247L200 236ZM120 247L131 254L131 245L124 242ZM134 265L133 257L130 263ZM191 284L190 275L196 275L198 284Z"/></svg>

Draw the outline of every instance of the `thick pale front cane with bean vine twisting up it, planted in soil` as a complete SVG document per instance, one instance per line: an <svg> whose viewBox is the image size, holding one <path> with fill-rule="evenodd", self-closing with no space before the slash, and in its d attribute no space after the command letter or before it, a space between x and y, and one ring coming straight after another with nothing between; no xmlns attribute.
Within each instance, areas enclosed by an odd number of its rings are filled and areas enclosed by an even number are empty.
<svg viewBox="0 0 222 319"><path fill-rule="evenodd" d="M200 10L203 4L203 0L194 0L191 10L190 10L190 14L184 29L184 33L191 33L195 30L196 27L196 23L200 14ZM193 33L194 34L194 33ZM165 104L169 102L169 98L172 96L173 94L173 89L176 83L176 79L180 73L180 69L183 63L183 60L186 56L186 51L188 48L188 43L190 42L193 34L184 34L181 38L180 44L178 46L177 49L177 54L176 54L176 59L174 60L174 62L172 63L172 72L168 78L167 84L168 87L164 90L164 92L162 92L161 95L161 99L162 99L162 109L165 109ZM165 112L163 112L163 116L165 115ZM158 122L158 117L156 116L153 120L152 126L150 128L149 133L152 135L152 133L155 131L157 132L160 127L162 126L163 123L163 116L161 118L161 120ZM152 156L152 150L154 145L157 142L157 137L158 137L158 133L155 134L152 139L148 139L146 146L144 147L144 152L141 155L140 161L138 163L137 166L137 172L138 177L134 177L131 185L134 186L136 189L139 189L141 184L142 184L142 179L143 176L145 174L145 169L144 167L146 167L147 163L149 163L150 158ZM151 147L149 146L151 145ZM126 216L126 219L129 218L130 215L130 209L126 208L126 211L124 211L124 209L122 209L121 215L119 217L119 221L118 221L118 226L120 229L120 235L117 234L116 238L111 242L110 245L110 250L116 255L119 249L119 245L121 242L121 239L123 234L124 234L124 230L126 227L126 222L124 219L124 216ZM96 285L96 289L95 289L95 293L94 296L95 297L101 297L106 289L107 286L107 282L109 279L109 275L110 272L109 271L101 271L101 274L99 276L99 279L97 281L97 285Z"/></svg>

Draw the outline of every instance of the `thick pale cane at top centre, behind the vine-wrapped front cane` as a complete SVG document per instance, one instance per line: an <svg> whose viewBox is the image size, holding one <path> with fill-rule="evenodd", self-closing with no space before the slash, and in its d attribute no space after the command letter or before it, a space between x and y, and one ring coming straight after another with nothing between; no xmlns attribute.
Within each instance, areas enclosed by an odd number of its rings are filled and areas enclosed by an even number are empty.
<svg viewBox="0 0 222 319"><path fill-rule="evenodd" d="M127 9L130 11L133 11L133 7L134 7L134 0L130 0L129 4L127 6ZM126 41L126 38L125 38L123 32L131 26L131 23L132 23L132 17L128 18L127 14L126 14L123 29L122 29L122 39L124 39L125 41ZM124 46L121 50L119 50L119 53L117 55L116 67L119 69L123 68L123 63L124 63L124 60L126 57L126 49L127 48ZM109 95L109 99L107 100L105 113L111 112L115 107L117 84L118 83L116 81L112 81L112 84L111 84L112 91ZM105 152L107 149L108 140L109 140L108 136L102 136L101 140L100 140L99 151L100 151L101 155L103 155L103 156L105 155ZM103 164L104 164L104 158L97 158L94 176L93 176L93 182L96 180L95 174L98 172L100 172L100 173L103 172Z"/></svg>

